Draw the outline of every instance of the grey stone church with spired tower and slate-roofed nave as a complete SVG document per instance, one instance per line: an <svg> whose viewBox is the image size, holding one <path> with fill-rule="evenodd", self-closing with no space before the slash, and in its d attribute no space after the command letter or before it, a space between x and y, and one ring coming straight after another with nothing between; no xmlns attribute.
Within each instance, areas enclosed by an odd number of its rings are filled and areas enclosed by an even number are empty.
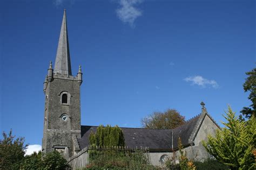
<svg viewBox="0 0 256 170"><path fill-rule="evenodd" d="M84 167L84 157L89 146L89 135L97 126L81 125L80 86L83 82L82 67L77 74L71 72L66 11L62 19L55 65L50 62L44 80L45 94L44 130L42 152L59 151L73 168ZM125 145L129 148L146 147L149 162L161 165L178 150L181 138L188 159L203 161L211 157L202 145L208 134L214 134L219 126L208 114L201 102L201 113L175 129L121 128ZM79 165L78 165L79 162Z"/></svg>

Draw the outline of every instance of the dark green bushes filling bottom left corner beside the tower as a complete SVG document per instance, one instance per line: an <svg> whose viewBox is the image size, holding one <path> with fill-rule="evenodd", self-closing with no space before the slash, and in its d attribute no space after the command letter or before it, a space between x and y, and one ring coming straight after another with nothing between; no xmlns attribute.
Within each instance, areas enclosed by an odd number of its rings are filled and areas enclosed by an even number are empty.
<svg viewBox="0 0 256 170"><path fill-rule="evenodd" d="M43 154L34 152L25 154L24 138L16 138L3 132L3 140L0 140L0 169L65 169L69 166L63 156L57 152Z"/></svg>

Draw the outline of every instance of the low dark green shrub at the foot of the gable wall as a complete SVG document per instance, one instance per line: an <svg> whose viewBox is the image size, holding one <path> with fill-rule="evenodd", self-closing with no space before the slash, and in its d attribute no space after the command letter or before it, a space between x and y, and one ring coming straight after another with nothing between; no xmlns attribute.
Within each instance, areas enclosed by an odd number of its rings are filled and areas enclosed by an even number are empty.
<svg viewBox="0 0 256 170"><path fill-rule="evenodd" d="M194 161L197 170L228 170L228 166L215 159L206 159L204 162Z"/></svg>

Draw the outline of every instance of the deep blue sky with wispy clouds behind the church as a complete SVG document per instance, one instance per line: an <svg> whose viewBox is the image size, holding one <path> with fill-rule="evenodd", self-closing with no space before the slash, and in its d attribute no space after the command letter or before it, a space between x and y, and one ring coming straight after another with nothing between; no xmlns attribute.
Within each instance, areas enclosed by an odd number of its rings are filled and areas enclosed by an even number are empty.
<svg viewBox="0 0 256 170"><path fill-rule="evenodd" d="M43 82L67 10L72 73L82 65L82 125L141 127L154 111L215 121L251 102L255 1L3 0L1 131L41 145Z"/></svg>

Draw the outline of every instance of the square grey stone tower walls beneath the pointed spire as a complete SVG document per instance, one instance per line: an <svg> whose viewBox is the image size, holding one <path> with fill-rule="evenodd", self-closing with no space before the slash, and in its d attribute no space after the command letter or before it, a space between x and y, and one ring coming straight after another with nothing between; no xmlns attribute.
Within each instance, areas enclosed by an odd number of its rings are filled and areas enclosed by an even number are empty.
<svg viewBox="0 0 256 170"><path fill-rule="evenodd" d="M68 96L62 102L62 95ZM78 150L80 138L80 86L77 78L55 74L45 90L45 115L42 151L63 151L68 160Z"/></svg>

